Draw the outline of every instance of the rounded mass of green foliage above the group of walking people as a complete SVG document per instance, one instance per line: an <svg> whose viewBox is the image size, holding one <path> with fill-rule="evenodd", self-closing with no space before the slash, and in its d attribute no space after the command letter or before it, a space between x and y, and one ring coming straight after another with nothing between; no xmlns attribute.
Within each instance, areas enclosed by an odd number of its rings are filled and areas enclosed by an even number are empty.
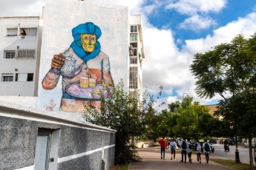
<svg viewBox="0 0 256 170"><path fill-rule="evenodd" d="M200 139L210 136L220 137L230 134L230 128L221 129L223 122L209 115L209 109L193 102L193 98L187 96L180 103L176 101L168 105L168 110L163 110L158 116L161 120L158 126L158 134L168 137L190 137Z"/></svg>

